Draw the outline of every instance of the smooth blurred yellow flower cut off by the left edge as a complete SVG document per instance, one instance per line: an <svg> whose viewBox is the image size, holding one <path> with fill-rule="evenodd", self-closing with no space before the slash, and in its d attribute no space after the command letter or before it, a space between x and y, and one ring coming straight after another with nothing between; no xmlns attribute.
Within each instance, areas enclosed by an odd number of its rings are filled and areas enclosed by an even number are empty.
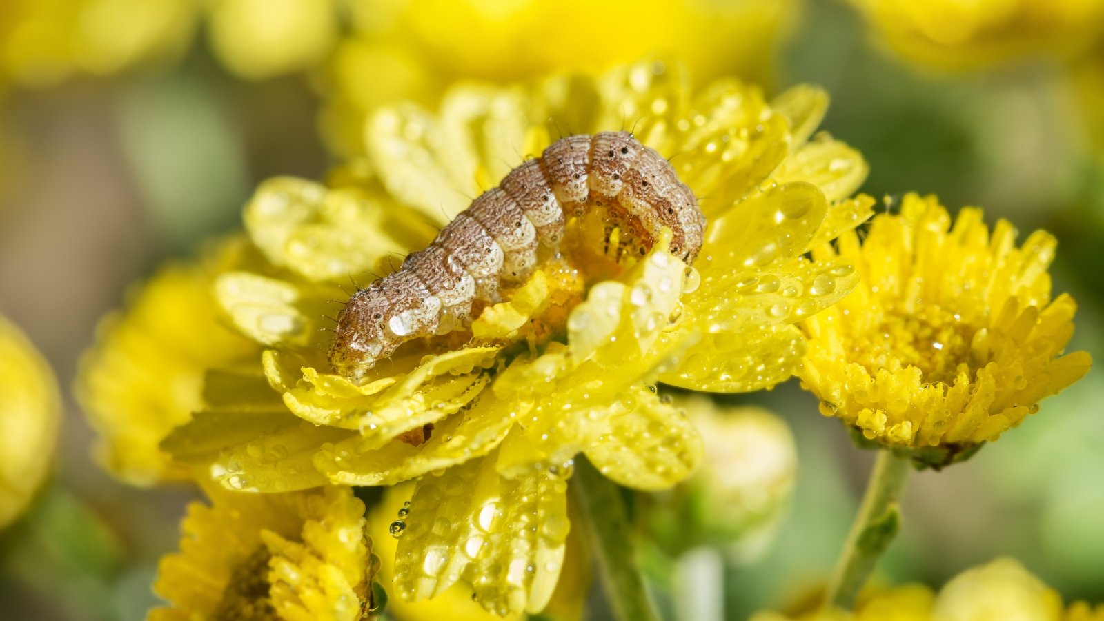
<svg viewBox="0 0 1104 621"><path fill-rule="evenodd" d="M50 365L0 316L0 528L23 513L50 472L60 420Z"/></svg>

